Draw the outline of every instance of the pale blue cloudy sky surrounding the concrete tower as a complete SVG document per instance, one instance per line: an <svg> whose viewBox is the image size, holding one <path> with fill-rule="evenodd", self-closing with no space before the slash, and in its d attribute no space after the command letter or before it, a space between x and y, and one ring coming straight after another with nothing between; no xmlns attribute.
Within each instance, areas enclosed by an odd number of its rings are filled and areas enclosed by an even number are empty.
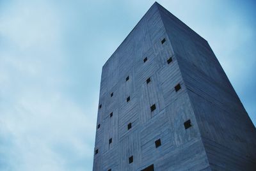
<svg viewBox="0 0 256 171"><path fill-rule="evenodd" d="M256 124L256 3L157 2L209 42ZM0 170L92 170L102 66L153 3L0 0Z"/></svg>

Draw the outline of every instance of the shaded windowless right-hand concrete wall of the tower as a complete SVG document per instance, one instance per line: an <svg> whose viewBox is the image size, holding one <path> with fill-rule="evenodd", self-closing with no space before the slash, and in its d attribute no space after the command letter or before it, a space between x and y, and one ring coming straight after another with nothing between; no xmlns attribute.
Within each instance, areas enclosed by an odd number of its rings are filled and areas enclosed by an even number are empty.
<svg viewBox="0 0 256 171"><path fill-rule="evenodd" d="M167 10L159 9L211 168L255 170L255 127L211 47Z"/></svg>

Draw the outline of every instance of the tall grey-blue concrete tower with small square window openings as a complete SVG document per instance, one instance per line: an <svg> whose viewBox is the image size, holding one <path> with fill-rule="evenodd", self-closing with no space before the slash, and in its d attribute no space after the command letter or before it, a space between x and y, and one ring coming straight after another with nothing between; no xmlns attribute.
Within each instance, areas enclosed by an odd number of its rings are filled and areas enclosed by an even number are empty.
<svg viewBox="0 0 256 171"><path fill-rule="evenodd" d="M154 3L102 68L93 170L256 170L256 131L204 38Z"/></svg>

